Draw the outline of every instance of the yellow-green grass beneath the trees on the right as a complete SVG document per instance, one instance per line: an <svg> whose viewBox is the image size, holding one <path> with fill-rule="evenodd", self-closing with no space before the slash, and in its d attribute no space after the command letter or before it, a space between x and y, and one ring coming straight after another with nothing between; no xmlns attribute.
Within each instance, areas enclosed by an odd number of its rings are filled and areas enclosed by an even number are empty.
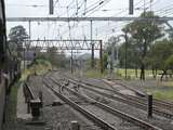
<svg viewBox="0 0 173 130"><path fill-rule="evenodd" d="M161 70L160 70L161 72ZM119 68L118 72L115 70L115 76L117 77L118 73L118 78L124 78L124 69ZM139 69L137 70L137 75L139 76ZM84 76L88 78L104 78L108 76L108 73L105 72L104 74L101 74L99 70L94 70L90 69L86 70ZM135 78L135 70L134 69L128 69L128 76L129 80L134 80L134 84L139 81L138 78ZM167 100L167 101L173 101L173 81L160 81L160 77L157 79L152 78L152 72L151 70L146 70L146 78L149 80L155 80L156 83L150 84L148 80L143 81L143 86L146 88L146 91L151 92L156 99L160 100Z"/></svg>

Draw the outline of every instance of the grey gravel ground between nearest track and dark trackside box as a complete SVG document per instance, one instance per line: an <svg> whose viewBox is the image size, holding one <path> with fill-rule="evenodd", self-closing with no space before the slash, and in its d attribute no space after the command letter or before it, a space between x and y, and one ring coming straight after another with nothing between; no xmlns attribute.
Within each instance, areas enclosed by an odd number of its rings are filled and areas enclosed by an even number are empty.
<svg viewBox="0 0 173 130"><path fill-rule="evenodd" d="M5 130L69 130L70 122L74 120L80 123L81 130L101 130L101 128L96 127L92 121L69 107L61 99L56 98L52 91L46 89L42 83L42 77L30 77L28 84L36 96L39 95L39 91L42 91L43 108L41 110L41 121L45 122L45 125L26 125L30 122L30 119L17 118L13 123L14 127ZM59 102L62 105L52 106L53 101Z"/></svg>

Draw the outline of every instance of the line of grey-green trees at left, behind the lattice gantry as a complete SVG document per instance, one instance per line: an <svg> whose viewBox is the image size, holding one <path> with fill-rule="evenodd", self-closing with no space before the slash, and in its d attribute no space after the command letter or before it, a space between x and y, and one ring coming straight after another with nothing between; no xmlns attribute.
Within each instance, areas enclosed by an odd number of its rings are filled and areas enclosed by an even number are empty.
<svg viewBox="0 0 173 130"><path fill-rule="evenodd" d="M10 29L9 34L9 50L11 55L18 61L22 61L24 57L24 49L28 48L30 44L24 44L24 41L29 38L26 29L22 26L15 26ZM31 49L31 47L29 47ZM35 61L32 64L37 63L37 60L44 60L52 64L56 68L67 68L69 66L69 58L66 57L65 53L59 51L57 48L52 47L46 51L42 52L41 48L31 49L35 52ZM26 50L27 52L27 50Z"/></svg>

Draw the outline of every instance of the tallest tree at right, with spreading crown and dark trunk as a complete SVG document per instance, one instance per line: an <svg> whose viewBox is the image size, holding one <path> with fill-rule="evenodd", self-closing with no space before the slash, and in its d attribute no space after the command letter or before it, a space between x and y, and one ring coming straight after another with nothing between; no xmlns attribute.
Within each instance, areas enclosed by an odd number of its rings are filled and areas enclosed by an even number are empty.
<svg viewBox="0 0 173 130"><path fill-rule="evenodd" d="M154 12L144 12L139 17L158 16ZM122 30L136 40L136 48L139 51L141 79L145 80L145 60L149 51L150 44L158 38L163 36L162 23L159 21L134 21L128 24Z"/></svg>

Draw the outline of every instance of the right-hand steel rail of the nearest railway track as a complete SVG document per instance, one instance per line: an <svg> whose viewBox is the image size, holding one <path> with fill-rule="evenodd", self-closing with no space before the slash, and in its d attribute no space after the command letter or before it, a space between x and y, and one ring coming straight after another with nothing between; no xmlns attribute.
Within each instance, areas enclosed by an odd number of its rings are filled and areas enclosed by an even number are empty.
<svg viewBox="0 0 173 130"><path fill-rule="evenodd" d="M54 83L56 83L57 86L61 86L57 80L56 81L54 80ZM110 106L107 106L107 105L105 105L105 104L103 104L101 102L97 102L94 99L91 99L91 98L89 98L86 95L80 94L80 93L78 93L78 92L76 92L76 91L74 91L74 90L71 90L71 89L69 89L67 87L65 87L65 89L68 90L70 93L74 93L75 95L78 95L79 98L86 99L89 101L95 102L94 105L96 105L97 107L110 113L111 115L118 116L119 118L122 118L122 119L124 119L124 120L127 120L127 121L129 121L129 122L131 122L133 125L139 126L141 129L143 128L143 129L146 129L146 130L161 130L158 127L155 127L155 126L152 126L152 125L150 125L148 122L145 122L145 121L143 121L141 119L134 118L134 117L132 117L132 116L130 116L128 114L124 114L124 113L122 113L122 112L120 112L118 109L111 108Z"/></svg>

